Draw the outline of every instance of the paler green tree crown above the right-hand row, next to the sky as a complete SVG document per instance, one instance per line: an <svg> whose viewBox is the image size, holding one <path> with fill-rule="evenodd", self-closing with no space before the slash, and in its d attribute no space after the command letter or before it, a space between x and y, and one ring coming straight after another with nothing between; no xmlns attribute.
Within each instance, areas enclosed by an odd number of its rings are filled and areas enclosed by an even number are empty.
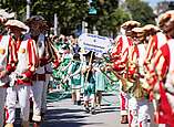
<svg viewBox="0 0 174 127"><path fill-rule="evenodd" d="M132 19L144 24L155 24L155 14L153 9L141 0L126 0L127 9L132 14Z"/></svg>

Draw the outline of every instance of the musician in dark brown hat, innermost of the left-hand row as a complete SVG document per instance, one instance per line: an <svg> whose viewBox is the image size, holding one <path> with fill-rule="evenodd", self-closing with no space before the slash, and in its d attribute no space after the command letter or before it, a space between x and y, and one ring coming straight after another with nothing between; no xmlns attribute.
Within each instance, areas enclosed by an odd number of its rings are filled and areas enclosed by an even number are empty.
<svg viewBox="0 0 174 127"><path fill-rule="evenodd" d="M25 21L27 25L30 27L29 36L35 41L37 55L38 55L38 68L32 76L32 100L33 100L33 116L32 120L34 127L39 127L42 119L41 107L45 108L45 96L48 88L48 81L50 72L47 70L50 62L54 62L54 65L59 65L58 54L54 51L52 43L49 38L45 36L44 32L48 28L44 18L41 15L33 15ZM48 73L49 72L49 73ZM48 77L47 77L48 76ZM44 98L44 99L43 99ZM42 103L44 102L44 103ZM43 106L44 105L44 106Z"/></svg>

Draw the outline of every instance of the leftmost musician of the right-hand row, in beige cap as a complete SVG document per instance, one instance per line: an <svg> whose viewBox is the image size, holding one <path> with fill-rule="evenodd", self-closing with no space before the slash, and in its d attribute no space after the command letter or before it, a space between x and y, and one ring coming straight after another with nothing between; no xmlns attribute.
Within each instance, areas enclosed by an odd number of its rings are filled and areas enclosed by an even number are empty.
<svg viewBox="0 0 174 127"><path fill-rule="evenodd" d="M111 60L113 61L113 68L123 77L126 77L127 73L127 56L129 56L129 49L133 45L131 39L131 30L135 27L139 27L140 23L136 21L126 21L124 22L121 28L124 30L125 33L119 35L115 40L115 46L111 53ZM124 74L123 74L124 73ZM122 83L121 83L122 84ZM127 95L125 92L122 91L121 85L121 124L127 124Z"/></svg>

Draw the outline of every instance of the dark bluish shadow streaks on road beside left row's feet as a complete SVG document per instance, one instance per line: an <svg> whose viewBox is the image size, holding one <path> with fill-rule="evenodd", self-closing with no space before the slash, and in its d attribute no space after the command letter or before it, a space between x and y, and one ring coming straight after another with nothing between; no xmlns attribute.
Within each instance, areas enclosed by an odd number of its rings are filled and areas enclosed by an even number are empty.
<svg viewBox="0 0 174 127"><path fill-rule="evenodd" d="M100 125L103 123L85 123L84 118L89 117L82 113L82 109L50 109L47 113L45 121L41 127L82 127L84 125ZM82 113L82 114L78 114Z"/></svg>

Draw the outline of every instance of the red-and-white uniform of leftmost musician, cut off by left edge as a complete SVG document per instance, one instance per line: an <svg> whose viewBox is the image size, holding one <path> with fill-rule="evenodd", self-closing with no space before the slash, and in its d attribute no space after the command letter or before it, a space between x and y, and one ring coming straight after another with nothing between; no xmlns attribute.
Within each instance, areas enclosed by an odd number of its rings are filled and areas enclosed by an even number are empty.
<svg viewBox="0 0 174 127"><path fill-rule="evenodd" d="M0 35L0 73L1 71L8 71L9 74L14 71L17 63L17 54L14 42L9 35ZM4 114L4 102L6 102L6 92L7 86L9 86L9 75L0 78L0 127L3 126L3 114Z"/></svg>

